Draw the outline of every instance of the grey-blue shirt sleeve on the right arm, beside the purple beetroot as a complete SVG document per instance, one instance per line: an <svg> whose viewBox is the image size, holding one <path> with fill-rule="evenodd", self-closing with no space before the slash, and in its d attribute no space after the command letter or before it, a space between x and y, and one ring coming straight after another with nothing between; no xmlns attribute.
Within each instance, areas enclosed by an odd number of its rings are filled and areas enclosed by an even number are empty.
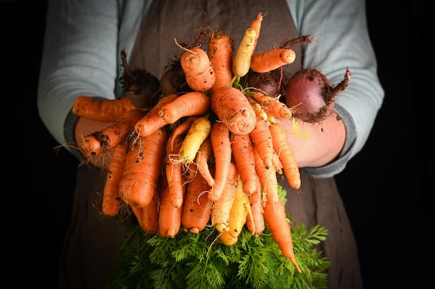
<svg viewBox="0 0 435 289"><path fill-rule="evenodd" d="M322 71L337 85L350 67L351 78L336 98L336 112L342 117L347 137L338 159L321 168L304 168L313 177L340 173L365 145L384 100L377 76L377 61L368 33L366 2L363 0L288 1L300 35L311 35L303 66Z"/></svg>

